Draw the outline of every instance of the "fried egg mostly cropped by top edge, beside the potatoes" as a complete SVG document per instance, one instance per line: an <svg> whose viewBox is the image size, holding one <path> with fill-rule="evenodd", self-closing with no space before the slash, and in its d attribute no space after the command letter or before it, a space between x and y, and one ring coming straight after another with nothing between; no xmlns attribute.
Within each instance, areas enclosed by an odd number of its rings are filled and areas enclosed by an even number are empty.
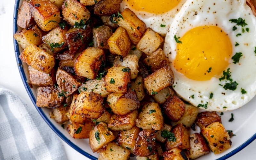
<svg viewBox="0 0 256 160"><path fill-rule="evenodd" d="M132 10L147 28L165 36L174 16L186 0L123 0L120 10Z"/></svg>

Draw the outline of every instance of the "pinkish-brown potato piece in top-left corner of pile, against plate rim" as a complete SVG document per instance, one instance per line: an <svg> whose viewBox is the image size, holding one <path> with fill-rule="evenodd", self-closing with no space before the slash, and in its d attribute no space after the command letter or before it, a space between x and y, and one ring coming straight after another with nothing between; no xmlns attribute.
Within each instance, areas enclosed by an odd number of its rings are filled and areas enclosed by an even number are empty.
<svg viewBox="0 0 256 160"><path fill-rule="evenodd" d="M17 25L21 28L28 28L35 24L35 20L31 15L30 8L28 6L28 1L23 1L18 12Z"/></svg>

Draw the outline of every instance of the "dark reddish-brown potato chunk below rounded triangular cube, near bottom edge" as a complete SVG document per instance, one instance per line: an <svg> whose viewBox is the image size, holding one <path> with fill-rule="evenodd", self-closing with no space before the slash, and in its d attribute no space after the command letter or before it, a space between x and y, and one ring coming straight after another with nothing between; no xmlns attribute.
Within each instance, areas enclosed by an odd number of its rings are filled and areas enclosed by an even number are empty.
<svg viewBox="0 0 256 160"><path fill-rule="evenodd" d="M152 155L155 150L155 141L156 135L151 134L150 130L140 131L133 149L133 154L140 157ZM151 147L151 151L149 151L149 147Z"/></svg>

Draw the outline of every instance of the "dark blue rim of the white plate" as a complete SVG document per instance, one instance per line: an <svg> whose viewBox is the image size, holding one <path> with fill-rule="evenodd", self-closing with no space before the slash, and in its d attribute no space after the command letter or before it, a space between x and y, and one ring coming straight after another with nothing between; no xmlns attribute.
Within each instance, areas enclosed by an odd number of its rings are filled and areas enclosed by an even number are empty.
<svg viewBox="0 0 256 160"><path fill-rule="evenodd" d="M18 31L18 26L17 26L17 17L18 17L18 9L19 9L19 3L20 0L15 0L15 6L14 6L14 13L13 13L13 34L15 34ZM20 49L17 41L13 38L13 44L14 44L14 51L15 51L15 57L16 57L16 62L19 68L20 76L22 79L22 82L27 90L29 98L32 100L32 103L34 104L36 110L39 112L39 114L42 116L44 121L50 126L50 128L62 139L64 140L70 147L74 148L77 152L81 153L82 155L86 156L89 159L92 160L97 160L98 158L90 155L89 153L85 152L83 149L79 148L76 146L73 142L71 142L66 136L64 136L53 124L52 122L47 118L47 116L44 114L42 108L39 108L36 106L36 98L34 97L34 94L31 91L31 88L29 87L27 83L27 77L25 75L22 62L19 59L20 55ZM229 152L228 154L216 159L216 160L225 160L228 159L229 157L235 155L242 149L244 149L246 146L248 146L250 143L252 143L253 140L256 139L256 133L247 141L245 141L241 146L237 147L233 151Z"/></svg>

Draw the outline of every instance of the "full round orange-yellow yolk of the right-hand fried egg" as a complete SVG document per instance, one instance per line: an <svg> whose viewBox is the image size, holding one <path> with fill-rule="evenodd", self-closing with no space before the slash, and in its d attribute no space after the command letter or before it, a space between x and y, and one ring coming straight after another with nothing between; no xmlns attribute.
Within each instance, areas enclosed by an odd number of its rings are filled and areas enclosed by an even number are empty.
<svg viewBox="0 0 256 160"><path fill-rule="evenodd" d="M189 79L210 80L228 67L232 44L221 28L196 27L178 40L174 68Z"/></svg>

